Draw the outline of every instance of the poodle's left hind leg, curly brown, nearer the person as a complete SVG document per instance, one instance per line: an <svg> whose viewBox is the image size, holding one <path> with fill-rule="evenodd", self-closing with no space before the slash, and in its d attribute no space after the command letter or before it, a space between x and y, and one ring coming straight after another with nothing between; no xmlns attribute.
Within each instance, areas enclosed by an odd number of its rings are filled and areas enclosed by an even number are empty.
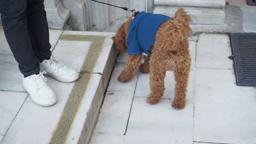
<svg viewBox="0 0 256 144"><path fill-rule="evenodd" d="M163 67L165 65L163 57L158 55L150 56L149 61L149 79L150 79L150 94L147 98L147 102L149 104L156 104L160 101L162 95L164 95L165 91L165 75L166 68Z"/></svg>

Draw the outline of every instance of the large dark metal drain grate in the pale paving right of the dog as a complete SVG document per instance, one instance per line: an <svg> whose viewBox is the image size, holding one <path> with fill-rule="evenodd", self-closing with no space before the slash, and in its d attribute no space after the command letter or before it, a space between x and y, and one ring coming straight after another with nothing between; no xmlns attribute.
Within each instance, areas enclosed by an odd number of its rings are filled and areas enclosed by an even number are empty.
<svg viewBox="0 0 256 144"><path fill-rule="evenodd" d="M256 86L256 34L231 34L237 85Z"/></svg>

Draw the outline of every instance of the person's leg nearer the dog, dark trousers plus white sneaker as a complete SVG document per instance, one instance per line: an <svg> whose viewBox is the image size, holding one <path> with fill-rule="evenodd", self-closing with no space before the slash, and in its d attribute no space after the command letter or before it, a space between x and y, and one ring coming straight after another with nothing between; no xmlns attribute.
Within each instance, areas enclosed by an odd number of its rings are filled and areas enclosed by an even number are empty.
<svg viewBox="0 0 256 144"><path fill-rule="evenodd" d="M51 57L49 29L43 0L27 0L28 32L36 56L40 61L40 70L46 75L62 82L73 82L79 75L74 69L66 67Z"/></svg>

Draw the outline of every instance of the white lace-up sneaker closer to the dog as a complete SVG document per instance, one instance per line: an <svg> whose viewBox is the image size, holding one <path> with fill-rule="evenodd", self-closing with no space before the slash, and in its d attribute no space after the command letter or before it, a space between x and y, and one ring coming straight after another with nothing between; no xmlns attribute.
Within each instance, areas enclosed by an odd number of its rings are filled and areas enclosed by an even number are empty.
<svg viewBox="0 0 256 144"><path fill-rule="evenodd" d="M45 70L46 75L61 82L73 82L79 77L77 71L68 68L53 56L49 60L44 60L40 63L40 70Z"/></svg>

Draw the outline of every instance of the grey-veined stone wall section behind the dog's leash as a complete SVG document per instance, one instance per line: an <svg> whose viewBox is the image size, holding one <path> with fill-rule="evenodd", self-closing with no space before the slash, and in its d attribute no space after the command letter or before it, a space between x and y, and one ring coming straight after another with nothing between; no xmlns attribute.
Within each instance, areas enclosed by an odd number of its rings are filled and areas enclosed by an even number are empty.
<svg viewBox="0 0 256 144"><path fill-rule="evenodd" d="M88 19L88 29L102 30L107 28L111 23L122 19L124 17L131 16L129 11L123 9L115 8L112 6L104 5L101 3L92 2L90 0L84 0L86 5L88 5L87 13L89 15ZM129 7L130 9L136 9L139 11L148 11L153 13L153 2L154 0L99 0L101 2L118 5L119 7ZM90 7L90 8L89 8Z"/></svg>

